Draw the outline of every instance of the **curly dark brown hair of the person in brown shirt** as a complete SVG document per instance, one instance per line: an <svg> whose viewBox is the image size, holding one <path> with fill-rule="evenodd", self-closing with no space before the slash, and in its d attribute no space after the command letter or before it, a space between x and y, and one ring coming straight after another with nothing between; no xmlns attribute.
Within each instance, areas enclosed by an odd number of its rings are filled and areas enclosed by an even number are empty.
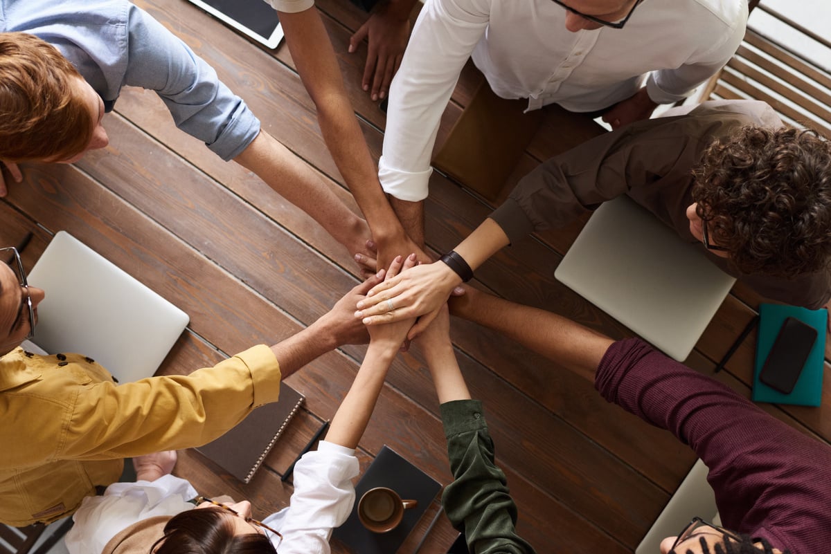
<svg viewBox="0 0 831 554"><path fill-rule="evenodd" d="M812 130L747 126L711 144L692 197L745 274L790 278L831 259L831 145Z"/></svg>

